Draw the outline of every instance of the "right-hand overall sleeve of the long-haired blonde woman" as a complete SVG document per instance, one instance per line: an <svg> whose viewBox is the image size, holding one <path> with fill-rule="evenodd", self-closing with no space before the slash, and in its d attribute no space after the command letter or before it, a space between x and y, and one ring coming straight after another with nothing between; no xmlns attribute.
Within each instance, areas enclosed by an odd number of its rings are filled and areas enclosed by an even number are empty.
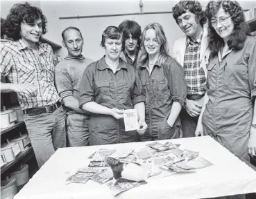
<svg viewBox="0 0 256 199"><path fill-rule="evenodd" d="M166 64L169 69L167 71L167 79L172 102L180 102L181 106L184 107L184 102L187 97L187 83L184 76L184 70L175 59L167 59L167 61L169 62Z"/></svg>

